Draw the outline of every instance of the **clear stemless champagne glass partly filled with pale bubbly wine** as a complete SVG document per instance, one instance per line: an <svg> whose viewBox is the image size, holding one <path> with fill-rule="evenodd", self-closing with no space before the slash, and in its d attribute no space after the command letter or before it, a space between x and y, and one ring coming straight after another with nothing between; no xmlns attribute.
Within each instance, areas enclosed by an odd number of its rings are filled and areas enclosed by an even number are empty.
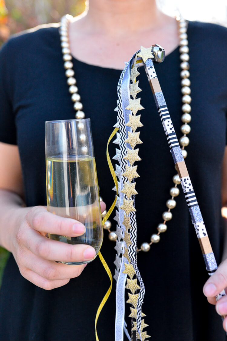
<svg viewBox="0 0 227 341"><path fill-rule="evenodd" d="M49 233L49 238L68 244L91 245L97 256L103 229L90 119L47 121L45 133L47 209L85 225L82 236ZM88 262L66 264L85 263Z"/></svg>

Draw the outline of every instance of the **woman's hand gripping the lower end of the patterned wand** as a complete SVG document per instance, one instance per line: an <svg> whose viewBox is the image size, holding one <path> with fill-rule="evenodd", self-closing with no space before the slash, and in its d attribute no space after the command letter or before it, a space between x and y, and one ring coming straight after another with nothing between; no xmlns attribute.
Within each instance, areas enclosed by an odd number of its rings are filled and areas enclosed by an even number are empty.
<svg viewBox="0 0 227 341"><path fill-rule="evenodd" d="M225 288L227 288L227 259L218 266L213 276L207 280L203 288L208 302L216 305L216 311L221 316L227 315L227 295L218 301L216 301L215 296ZM223 321L223 328L227 331L227 316Z"/></svg>

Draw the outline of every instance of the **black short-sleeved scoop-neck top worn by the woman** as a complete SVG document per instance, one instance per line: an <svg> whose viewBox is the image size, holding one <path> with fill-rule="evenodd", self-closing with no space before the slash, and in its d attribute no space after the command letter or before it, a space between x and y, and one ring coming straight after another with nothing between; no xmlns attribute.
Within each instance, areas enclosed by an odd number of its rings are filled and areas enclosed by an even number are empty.
<svg viewBox="0 0 227 341"><path fill-rule="evenodd" d="M220 262L221 173L226 145L227 29L190 22L190 80L192 121L186 164ZM150 41L153 42L152 39ZM138 46L139 48L139 46ZM116 123L117 83L121 71L73 60L86 118L91 118L100 195L112 204L115 192L106 145ZM176 48L155 65L178 137L181 122L180 61ZM124 65L123 65L124 66ZM139 86L141 162L135 198L138 246L157 232L176 174L165 133L145 71ZM48 120L73 119L57 27L37 28L10 39L0 52L0 140L20 151L26 204L46 204L45 132ZM110 154L116 145L111 144ZM138 255L145 284L143 312L151 340L224 340L220 316L202 294L208 278L203 257L182 191L173 219L158 244ZM112 215L112 218L114 215ZM112 220L113 230L116 222ZM102 254L114 273L114 242L104 232ZM95 340L95 314L109 287L109 278L97 258L81 276L52 291L24 279L13 256L6 266L0 291L0 338L3 340ZM127 294L126 294L127 296ZM130 326L129 305L126 321ZM114 340L115 283L98 322L100 340Z"/></svg>

